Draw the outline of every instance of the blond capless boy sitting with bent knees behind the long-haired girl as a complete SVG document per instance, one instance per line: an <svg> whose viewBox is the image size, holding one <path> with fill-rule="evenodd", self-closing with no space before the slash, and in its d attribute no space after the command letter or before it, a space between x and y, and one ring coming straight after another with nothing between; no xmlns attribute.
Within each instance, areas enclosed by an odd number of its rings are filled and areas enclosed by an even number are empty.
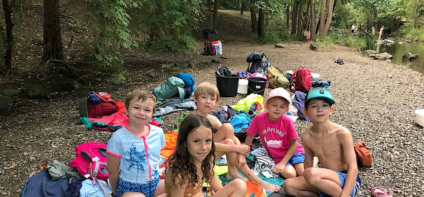
<svg viewBox="0 0 424 197"><path fill-rule="evenodd" d="M215 161L222 155L227 156L228 173L227 179L233 180L240 178L246 180L239 174L237 168L251 181L261 185L267 192L278 192L281 187L267 183L257 177L246 165L246 155L249 153L249 146L242 145L240 140L234 136L234 128L230 123L222 124L218 118L209 115L218 104L219 91L215 84L211 82L200 83L193 94L196 102L196 110L191 114L197 114L208 118L216 133L213 134L215 146Z"/></svg>

